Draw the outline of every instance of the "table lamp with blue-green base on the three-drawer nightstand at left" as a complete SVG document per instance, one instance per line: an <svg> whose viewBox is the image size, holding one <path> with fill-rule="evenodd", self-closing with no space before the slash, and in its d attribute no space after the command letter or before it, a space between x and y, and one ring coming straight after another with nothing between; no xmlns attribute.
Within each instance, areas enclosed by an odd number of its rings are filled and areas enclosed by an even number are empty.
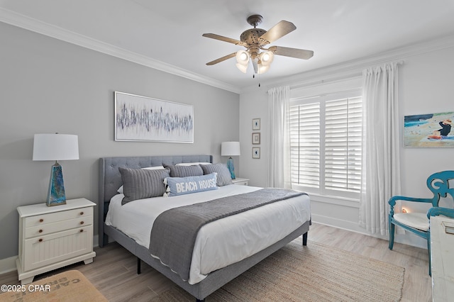
<svg viewBox="0 0 454 302"><path fill-rule="evenodd" d="M66 203L62 166L59 160L79 160L77 135L35 134L33 140L33 160L55 160L50 170L50 181L46 206Z"/></svg>

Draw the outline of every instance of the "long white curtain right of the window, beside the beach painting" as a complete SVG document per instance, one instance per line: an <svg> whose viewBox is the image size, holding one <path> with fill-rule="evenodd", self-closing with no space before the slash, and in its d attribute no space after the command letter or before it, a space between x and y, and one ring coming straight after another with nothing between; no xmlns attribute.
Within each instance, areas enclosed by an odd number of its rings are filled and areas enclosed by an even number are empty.
<svg viewBox="0 0 454 302"><path fill-rule="evenodd" d="M391 196L400 194L397 64L362 72L362 190L360 226L387 235Z"/></svg>

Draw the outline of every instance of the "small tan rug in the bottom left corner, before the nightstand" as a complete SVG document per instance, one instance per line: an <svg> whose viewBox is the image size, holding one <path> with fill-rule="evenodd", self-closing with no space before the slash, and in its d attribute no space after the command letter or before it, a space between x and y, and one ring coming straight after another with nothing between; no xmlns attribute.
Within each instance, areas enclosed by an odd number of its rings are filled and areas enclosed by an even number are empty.
<svg viewBox="0 0 454 302"><path fill-rule="evenodd" d="M2 291L4 288L2 287ZM5 288L0 294L0 301L21 302L101 302L107 299L94 287L85 276L71 270L49 276L31 284Z"/></svg>

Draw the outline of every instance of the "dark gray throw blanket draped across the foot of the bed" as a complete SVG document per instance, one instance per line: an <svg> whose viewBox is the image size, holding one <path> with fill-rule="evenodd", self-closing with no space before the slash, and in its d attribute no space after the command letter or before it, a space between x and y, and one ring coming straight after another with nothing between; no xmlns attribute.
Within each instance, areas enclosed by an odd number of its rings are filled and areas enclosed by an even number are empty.
<svg viewBox="0 0 454 302"><path fill-rule="evenodd" d="M267 188L172 208L157 216L153 223L150 254L159 257L163 264L187 281L197 232L203 225L267 203L303 194L305 193L287 189Z"/></svg>

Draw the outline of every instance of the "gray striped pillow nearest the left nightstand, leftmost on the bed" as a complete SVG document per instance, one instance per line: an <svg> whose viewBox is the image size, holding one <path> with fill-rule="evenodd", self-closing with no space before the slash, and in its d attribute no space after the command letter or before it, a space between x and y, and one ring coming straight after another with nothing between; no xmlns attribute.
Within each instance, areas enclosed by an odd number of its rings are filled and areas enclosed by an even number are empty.
<svg viewBox="0 0 454 302"><path fill-rule="evenodd" d="M164 179L170 177L169 169L146 170L118 168L123 180L121 204L142 198L162 196L165 193Z"/></svg>

